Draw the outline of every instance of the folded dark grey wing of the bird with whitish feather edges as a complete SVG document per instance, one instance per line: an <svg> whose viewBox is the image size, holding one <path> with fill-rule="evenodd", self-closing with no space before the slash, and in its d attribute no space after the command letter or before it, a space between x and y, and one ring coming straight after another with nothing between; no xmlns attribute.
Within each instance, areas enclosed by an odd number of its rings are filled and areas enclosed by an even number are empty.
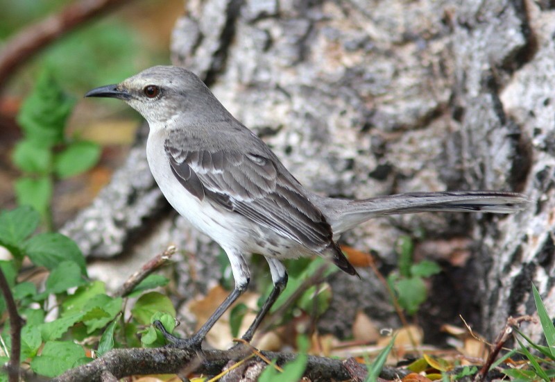
<svg viewBox="0 0 555 382"><path fill-rule="evenodd" d="M183 136L164 144L173 175L187 191L313 251L330 246L330 224L271 153L207 146Z"/></svg>

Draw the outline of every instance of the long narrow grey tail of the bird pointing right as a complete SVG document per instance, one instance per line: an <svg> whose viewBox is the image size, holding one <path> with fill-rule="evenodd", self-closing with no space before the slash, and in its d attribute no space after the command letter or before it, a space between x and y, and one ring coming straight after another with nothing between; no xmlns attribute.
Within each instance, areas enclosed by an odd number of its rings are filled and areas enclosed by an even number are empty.
<svg viewBox="0 0 555 382"><path fill-rule="evenodd" d="M527 197L514 192L456 191L411 192L362 200L317 197L334 234L339 234L379 215L458 211L515 213L529 204Z"/></svg>

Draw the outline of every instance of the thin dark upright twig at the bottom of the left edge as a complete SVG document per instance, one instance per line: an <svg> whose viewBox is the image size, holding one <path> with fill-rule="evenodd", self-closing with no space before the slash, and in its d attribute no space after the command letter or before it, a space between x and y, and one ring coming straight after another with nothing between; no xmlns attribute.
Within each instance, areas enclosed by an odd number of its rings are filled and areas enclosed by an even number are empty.
<svg viewBox="0 0 555 382"><path fill-rule="evenodd" d="M8 315L10 316L10 335L12 338L12 350L10 352L10 362L8 363L8 380L10 382L19 381L19 358L22 352L22 325L23 319L17 313L17 306L13 299L10 285L4 276L4 272L0 269L0 289L6 306L8 308Z"/></svg>

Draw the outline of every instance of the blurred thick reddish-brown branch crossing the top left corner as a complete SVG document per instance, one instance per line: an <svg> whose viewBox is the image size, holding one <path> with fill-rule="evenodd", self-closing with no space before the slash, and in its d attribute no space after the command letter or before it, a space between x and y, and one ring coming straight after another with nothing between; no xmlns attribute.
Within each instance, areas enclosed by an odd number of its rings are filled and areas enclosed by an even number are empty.
<svg viewBox="0 0 555 382"><path fill-rule="evenodd" d="M46 17L37 24L24 28L12 37L0 53L0 84L6 83L12 72L47 47L92 17L105 13L130 0L82 0L72 3L60 13Z"/></svg>

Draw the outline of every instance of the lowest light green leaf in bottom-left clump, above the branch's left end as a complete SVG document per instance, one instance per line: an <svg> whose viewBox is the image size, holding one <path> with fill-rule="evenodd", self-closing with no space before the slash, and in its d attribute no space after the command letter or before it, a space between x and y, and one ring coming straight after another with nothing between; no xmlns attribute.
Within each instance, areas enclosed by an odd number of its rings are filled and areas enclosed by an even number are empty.
<svg viewBox="0 0 555 382"><path fill-rule="evenodd" d="M44 344L40 356L33 358L33 372L53 378L83 363L85 350L71 341L50 341Z"/></svg>

